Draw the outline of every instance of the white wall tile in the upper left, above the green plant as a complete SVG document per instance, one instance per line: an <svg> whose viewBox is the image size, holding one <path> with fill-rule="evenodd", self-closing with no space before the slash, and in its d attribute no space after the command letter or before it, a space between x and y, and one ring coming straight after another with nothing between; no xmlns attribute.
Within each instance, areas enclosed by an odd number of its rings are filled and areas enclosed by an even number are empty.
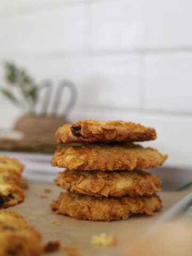
<svg viewBox="0 0 192 256"><path fill-rule="evenodd" d="M4 19L0 24L1 43L4 45L2 50L5 52L83 50L84 12L85 7L82 5L63 6Z"/></svg>

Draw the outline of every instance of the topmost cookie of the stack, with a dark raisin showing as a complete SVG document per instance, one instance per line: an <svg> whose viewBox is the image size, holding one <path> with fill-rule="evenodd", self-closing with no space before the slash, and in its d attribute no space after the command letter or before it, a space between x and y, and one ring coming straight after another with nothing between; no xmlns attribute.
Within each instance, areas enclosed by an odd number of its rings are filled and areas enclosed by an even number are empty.
<svg viewBox="0 0 192 256"><path fill-rule="evenodd" d="M59 127L55 135L59 143L156 139L155 129L124 121L79 120Z"/></svg>

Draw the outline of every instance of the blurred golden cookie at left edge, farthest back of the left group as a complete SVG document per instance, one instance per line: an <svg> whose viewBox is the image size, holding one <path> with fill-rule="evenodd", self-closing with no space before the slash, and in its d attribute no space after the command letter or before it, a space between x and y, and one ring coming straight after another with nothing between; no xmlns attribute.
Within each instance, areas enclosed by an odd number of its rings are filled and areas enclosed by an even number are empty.
<svg viewBox="0 0 192 256"><path fill-rule="evenodd" d="M23 165L17 159L0 155L0 184L15 184L27 188L26 180L22 177Z"/></svg>

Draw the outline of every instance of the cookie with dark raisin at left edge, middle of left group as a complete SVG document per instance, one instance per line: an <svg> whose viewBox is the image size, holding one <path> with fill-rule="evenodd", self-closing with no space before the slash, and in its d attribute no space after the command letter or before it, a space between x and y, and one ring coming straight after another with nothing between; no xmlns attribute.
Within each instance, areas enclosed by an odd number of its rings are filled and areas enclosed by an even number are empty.
<svg viewBox="0 0 192 256"><path fill-rule="evenodd" d="M5 209L22 203L25 193L12 184L0 184L0 209ZM1 255L1 254L0 254Z"/></svg>

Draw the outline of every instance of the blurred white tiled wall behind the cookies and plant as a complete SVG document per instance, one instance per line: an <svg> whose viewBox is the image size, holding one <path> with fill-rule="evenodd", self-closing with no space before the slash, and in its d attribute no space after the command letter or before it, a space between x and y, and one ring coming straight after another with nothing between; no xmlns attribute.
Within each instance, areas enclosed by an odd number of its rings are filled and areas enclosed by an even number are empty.
<svg viewBox="0 0 192 256"><path fill-rule="evenodd" d="M0 85L4 61L37 83L50 79L54 91L69 79L78 91L70 122L153 126L158 139L146 145L168 153L168 164L192 164L191 7L190 0L2 0ZM61 105L69 97L66 90ZM1 129L25 111L0 94Z"/></svg>

